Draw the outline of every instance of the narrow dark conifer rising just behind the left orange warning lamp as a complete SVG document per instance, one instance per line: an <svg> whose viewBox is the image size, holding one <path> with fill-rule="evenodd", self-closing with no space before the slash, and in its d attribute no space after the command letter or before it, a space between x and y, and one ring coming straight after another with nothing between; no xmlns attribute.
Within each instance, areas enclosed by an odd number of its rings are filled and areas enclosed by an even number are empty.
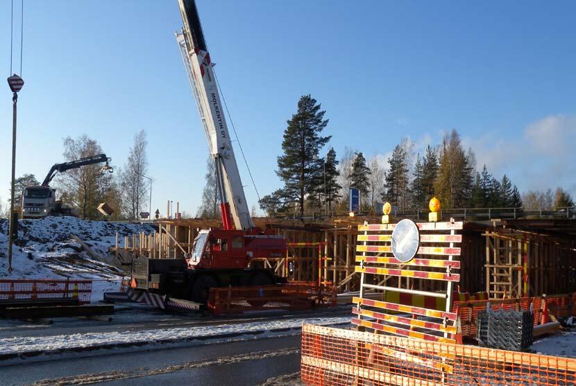
<svg viewBox="0 0 576 386"><path fill-rule="evenodd" d="M403 146L396 145L388 159L388 164L386 193L382 195L382 198L400 209L406 209L408 205L409 178L407 153Z"/></svg>

